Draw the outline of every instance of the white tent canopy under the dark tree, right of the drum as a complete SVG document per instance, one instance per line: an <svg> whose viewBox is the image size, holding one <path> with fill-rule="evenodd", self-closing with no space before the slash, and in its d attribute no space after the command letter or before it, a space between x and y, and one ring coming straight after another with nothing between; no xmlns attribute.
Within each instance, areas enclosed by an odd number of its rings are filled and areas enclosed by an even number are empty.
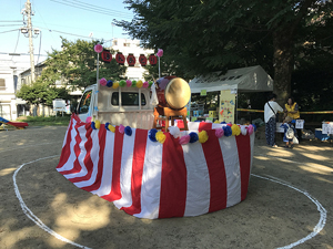
<svg viewBox="0 0 333 249"><path fill-rule="evenodd" d="M273 91L272 77L260 65L229 70L225 74L213 72L190 81L191 93L202 90L214 92L221 90L238 90L241 92Z"/></svg>

